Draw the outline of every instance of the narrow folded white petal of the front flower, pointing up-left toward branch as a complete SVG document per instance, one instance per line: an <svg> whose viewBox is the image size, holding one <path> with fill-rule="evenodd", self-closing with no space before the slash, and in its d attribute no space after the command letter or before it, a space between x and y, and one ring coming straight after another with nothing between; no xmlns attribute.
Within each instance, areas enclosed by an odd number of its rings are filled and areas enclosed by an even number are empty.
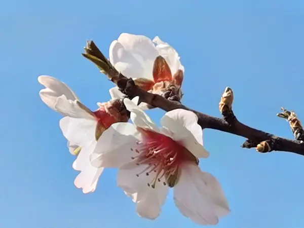
<svg viewBox="0 0 304 228"><path fill-rule="evenodd" d="M160 131L156 124L149 118L149 116L146 115L146 113L141 108L134 104L134 102L126 98L124 99L124 104L126 105L126 108L131 111L130 119L136 127L150 129L156 132Z"/></svg>

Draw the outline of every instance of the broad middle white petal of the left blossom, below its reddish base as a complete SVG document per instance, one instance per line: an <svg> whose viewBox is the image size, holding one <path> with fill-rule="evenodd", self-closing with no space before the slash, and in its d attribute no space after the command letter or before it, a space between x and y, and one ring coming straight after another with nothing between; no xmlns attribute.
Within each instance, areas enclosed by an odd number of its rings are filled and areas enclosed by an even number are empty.
<svg viewBox="0 0 304 228"><path fill-rule="evenodd" d="M87 146L95 140L96 120L64 117L59 125L64 137L74 145Z"/></svg>

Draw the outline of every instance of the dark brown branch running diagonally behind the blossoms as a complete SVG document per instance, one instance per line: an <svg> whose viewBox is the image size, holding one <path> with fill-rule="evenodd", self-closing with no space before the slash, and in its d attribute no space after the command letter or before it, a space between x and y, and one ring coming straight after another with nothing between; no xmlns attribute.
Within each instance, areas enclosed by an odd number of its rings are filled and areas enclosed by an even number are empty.
<svg viewBox="0 0 304 228"><path fill-rule="evenodd" d="M224 108L220 109L224 119L211 117L202 112L188 108L180 102L170 101L160 95L151 94L140 89L135 85L132 79L126 78L111 65L111 63L99 51L93 41L87 43L85 51L86 53L83 54L83 56L95 63L101 69L101 71L105 73L107 77L129 98L139 96L140 102L148 103L165 111L170 111L177 108L193 111L198 116L198 124L202 127L202 129L215 129L247 138L245 143L242 145L242 147L245 148L256 147L256 150L261 153L270 151L288 151L291 153L304 155L304 143L302 143L302 141L281 138L273 134L251 128L239 122L235 118L234 114L231 115L231 113L233 113L233 99L231 100L231 103L228 102L229 99L226 99L225 101L222 100L222 106L226 105L226 108L228 108L225 109L226 111L223 111ZM227 88L225 92L229 92L229 90L231 89ZM231 117L233 118L231 119Z"/></svg>

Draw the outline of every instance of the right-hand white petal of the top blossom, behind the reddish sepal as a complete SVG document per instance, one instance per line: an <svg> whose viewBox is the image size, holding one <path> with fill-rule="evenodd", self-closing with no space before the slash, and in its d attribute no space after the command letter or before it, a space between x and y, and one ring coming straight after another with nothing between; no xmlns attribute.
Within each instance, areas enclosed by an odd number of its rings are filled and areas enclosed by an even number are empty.
<svg viewBox="0 0 304 228"><path fill-rule="evenodd" d="M153 39L153 42L157 44L156 49L158 50L159 55L166 59L172 74L176 73L178 69L184 71L184 67L180 63L180 57L174 48L168 43L163 42L158 36Z"/></svg>

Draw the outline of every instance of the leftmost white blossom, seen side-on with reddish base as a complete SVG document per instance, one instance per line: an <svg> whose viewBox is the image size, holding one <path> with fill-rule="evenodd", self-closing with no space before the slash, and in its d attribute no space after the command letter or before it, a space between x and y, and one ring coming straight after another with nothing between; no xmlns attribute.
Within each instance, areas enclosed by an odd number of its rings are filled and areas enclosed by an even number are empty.
<svg viewBox="0 0 304 228"><path fill-rule="evenodd" d="M99 108L91 111L82 104L78 96L63 82L47 75L41 75L38 81L46 88L40 91L41 99L53 110L65 116L60 120L60 128L68 140L69 151L77 155L72 167L81 171L74 184L83 189L83 193L94 192L103 171L103 167L93 167L89 156L92 154L100 135L117 122L127 122L129 117L122 101L111 100L98 103Z"/></svg>

